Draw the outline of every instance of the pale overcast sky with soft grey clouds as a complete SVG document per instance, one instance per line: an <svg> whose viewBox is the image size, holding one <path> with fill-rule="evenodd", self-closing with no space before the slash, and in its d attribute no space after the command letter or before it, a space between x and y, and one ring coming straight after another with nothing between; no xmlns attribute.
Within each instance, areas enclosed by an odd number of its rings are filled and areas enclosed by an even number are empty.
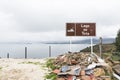
<svg viewBox="0 0 120 80"><path fill-rule="evenodd" d="M67 40L67 22L95 22L96 37L116 37L120 1L0 0L0 42Z"/></svg>

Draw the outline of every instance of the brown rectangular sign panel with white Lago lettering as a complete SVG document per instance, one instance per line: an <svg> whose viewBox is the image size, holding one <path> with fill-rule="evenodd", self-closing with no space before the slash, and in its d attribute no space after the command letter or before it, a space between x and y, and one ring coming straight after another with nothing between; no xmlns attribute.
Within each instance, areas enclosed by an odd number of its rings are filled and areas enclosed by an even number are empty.
<svg viewBox="0 0 120 80"><path fill-rule="evenodd" d="M96 23L67 23L66 36L96 36Z"/></svg>

